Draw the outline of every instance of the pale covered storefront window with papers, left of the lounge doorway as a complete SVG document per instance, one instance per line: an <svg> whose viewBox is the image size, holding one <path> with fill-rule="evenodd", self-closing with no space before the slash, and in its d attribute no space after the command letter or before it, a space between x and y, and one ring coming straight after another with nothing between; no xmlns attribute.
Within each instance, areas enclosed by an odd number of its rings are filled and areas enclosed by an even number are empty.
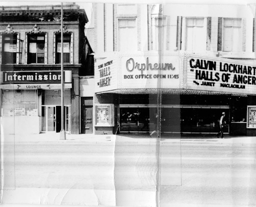
<svg viewBox="0 0 256 207"><path fill-rule="evenodd" d="M38 116L36 90L3 90L2 116Z"/></svg>

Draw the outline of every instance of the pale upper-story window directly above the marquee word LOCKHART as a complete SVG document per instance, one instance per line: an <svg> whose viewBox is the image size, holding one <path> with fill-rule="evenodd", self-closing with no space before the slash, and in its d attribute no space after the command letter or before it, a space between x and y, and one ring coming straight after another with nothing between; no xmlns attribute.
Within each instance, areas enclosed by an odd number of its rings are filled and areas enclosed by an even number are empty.
<svg viewBox="0 0 256 207"><path fill-rule="evenodd" d="M222 51L242 51L242 19L223 18Z"/></svg>

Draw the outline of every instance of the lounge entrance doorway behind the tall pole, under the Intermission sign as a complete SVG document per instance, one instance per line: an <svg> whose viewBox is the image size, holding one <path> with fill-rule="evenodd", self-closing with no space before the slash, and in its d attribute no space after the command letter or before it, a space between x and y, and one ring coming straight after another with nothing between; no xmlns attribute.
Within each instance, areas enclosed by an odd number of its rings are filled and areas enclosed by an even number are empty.
<svg viewBox="0 0 256 207"><path fill-rule="evenodd" d="M70 106L64 106L65 131L70 133ZM61 130L61 106L42 105L42 131L59 132Z"/></svg>

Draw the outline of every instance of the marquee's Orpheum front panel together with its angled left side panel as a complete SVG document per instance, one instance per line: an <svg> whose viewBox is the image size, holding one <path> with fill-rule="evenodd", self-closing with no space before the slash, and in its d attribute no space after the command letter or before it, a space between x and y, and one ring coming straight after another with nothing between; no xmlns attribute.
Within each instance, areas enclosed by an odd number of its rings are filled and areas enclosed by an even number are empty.
<svg viewBox="0 0 256 207"><path fill-rule="evenodd" d="M97 59L94 71L95 92L180 87L178 53L117 53Z"/></svg>

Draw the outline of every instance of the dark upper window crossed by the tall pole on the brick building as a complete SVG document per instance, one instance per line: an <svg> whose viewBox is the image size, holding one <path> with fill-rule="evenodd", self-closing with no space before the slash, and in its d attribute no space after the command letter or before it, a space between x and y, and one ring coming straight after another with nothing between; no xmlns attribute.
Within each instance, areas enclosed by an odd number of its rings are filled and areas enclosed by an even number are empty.
<svg viewBox="0 0 256 207"><path fill-rule="evenodd" d="M70 34L63 34L63 63L70 63ZM60 63L61 60L61 35L56 34L56 60L55 63Z"/></svg>

